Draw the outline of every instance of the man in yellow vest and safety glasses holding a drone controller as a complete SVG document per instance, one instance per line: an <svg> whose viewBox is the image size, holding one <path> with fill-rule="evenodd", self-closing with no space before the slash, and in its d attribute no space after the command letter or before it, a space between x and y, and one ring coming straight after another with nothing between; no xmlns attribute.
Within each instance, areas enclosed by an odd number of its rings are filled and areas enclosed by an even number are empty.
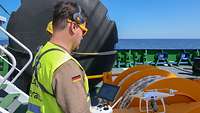
<svg viewBox="0 0 200 113"><path fill-rule="evenodd" d="M27 112L89 113L88 80L70 55L87 32L83 10L74 2L59 2L54 7L52 30L50 41L33 63Z"/></svg>

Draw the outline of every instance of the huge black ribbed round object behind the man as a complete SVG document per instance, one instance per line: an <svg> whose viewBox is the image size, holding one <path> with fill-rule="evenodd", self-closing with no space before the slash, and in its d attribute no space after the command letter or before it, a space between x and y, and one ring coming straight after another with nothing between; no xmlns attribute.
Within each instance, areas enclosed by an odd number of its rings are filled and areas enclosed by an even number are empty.
<svg viewBox="0 0 200 113"><path fill-rule="evenodd" d="M19 9L11 14L7 30L31 49L33 53L36 53L37 47L45 44L49 40L49 36L45 31L46 25L52 19L53 6L57 1L60 0L21 0ZM89 17L89 32L86 38L83 39L80 49L77 52L103 52L113 50L118 40L117 28L115 22L108 19L106 7L99 0L76 1ZM9 48L17 58L17 66L23 66L24 62L28 59L26 53L23 53L24 50L13 41L10 40L9 42ZM86 69L88 75L110 71L114 63L114 58L115 55L88 58L77 56L77 59ZM31 78L31 73L32 71L29 66L23 73L23 76L26 76L25 83L30 81L28 79ZM20 84L23 83L21 82Z"/></svg>

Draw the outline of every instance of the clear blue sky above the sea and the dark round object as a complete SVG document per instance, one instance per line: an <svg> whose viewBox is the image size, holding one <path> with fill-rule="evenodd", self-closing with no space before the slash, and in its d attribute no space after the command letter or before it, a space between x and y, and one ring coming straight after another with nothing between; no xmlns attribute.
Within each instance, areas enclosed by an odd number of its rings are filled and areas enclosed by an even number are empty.
<svg viewBox="0 0 200 113"><path fill-rule="evenodd" d="M120 38L199 38L200 0L101 0ZM9 12L20 0L0 0ZM2 9L0 15L8 17Z"/></svg>

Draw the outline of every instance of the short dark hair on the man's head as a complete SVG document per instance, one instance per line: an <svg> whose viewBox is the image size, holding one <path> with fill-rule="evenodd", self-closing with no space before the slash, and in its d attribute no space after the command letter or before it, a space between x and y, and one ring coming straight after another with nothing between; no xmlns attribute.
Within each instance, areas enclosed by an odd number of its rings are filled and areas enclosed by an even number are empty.
<svg viewBox="0 0 200 113"><path fill-rule="evenodd" d="M80 12L80 6L72 1L60 1L54 6L53 11L53 29L62 30L67 25L67 19L73 20L73 14ZM81 8L81 16L87 21L87 15Z"/></svg>

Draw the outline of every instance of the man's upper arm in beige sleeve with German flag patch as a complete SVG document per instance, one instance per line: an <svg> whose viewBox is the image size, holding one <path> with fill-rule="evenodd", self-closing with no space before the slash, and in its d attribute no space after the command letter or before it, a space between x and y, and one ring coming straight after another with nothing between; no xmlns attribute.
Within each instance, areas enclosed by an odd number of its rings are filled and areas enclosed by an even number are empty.
<svg viewBox="0 0 200 113"><path fill-rule="evenodd" d="M65 113L90 113L83 75L74 61L65 62L54 72L53 90Z"/></svg>

